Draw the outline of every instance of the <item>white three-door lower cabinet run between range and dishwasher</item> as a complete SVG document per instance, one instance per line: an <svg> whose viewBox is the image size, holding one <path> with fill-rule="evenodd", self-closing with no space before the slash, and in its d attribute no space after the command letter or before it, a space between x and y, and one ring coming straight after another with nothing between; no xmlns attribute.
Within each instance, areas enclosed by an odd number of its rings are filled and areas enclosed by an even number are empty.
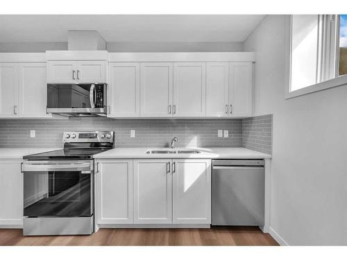
<svg viewBox="0 0 347 260"><path fill-rule="evenodd" d="M211 223L210 159L100 159L96 169L101 227Z"/></svg>

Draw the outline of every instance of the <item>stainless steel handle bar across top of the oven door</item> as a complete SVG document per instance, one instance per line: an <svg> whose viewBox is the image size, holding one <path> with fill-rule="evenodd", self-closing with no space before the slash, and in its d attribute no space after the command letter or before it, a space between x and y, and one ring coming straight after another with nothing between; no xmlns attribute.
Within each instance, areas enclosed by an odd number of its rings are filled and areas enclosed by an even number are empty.
<svg viewBox="0 0 347 260"><path fill-rule="evenodd" d="M26 171L83 171L83 173L91 173L92 164L26 164L22 165L22 172Z"/></svg>

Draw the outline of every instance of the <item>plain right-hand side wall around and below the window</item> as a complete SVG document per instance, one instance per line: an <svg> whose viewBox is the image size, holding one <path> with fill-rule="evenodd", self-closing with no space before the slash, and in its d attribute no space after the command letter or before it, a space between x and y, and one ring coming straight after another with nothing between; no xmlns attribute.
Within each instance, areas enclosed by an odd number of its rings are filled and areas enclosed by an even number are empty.
<svg viewBox="0 0 347 260"><path fill-rule="evenodd" d="M256 51L255 114L273 114L271 228L289 245L347 245L347 86L285 100L285 16L244 42Z"/></svg>

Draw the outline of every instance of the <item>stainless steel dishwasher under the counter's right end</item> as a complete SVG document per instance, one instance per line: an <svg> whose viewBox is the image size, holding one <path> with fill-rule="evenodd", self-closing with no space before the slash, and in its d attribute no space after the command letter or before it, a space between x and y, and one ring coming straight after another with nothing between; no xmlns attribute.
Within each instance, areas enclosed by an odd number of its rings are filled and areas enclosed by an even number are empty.
<svg viewBox="0 0 347 260"><path fill-rule="evenodd" d="M264 225L264 160L212 161L212 225Z"/></svg>

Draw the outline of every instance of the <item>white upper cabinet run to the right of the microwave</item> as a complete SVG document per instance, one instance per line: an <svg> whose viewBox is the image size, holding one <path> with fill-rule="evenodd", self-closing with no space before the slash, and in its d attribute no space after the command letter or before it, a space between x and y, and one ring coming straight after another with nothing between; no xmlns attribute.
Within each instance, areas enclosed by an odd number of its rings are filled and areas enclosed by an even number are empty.
<svg viewBox="0 0 347 260"><path fill-rule="evenodd" d="M143 55L117 58L139 60ZM242 60L253 58L247 55L251 54L235 54L240 60L235 62L223 57L223 62L110 62L108 116L252 116L253 62ZM153 60L158 57L159 53L153 55ZM175 60L174 54L170 57Z"/></svg>

